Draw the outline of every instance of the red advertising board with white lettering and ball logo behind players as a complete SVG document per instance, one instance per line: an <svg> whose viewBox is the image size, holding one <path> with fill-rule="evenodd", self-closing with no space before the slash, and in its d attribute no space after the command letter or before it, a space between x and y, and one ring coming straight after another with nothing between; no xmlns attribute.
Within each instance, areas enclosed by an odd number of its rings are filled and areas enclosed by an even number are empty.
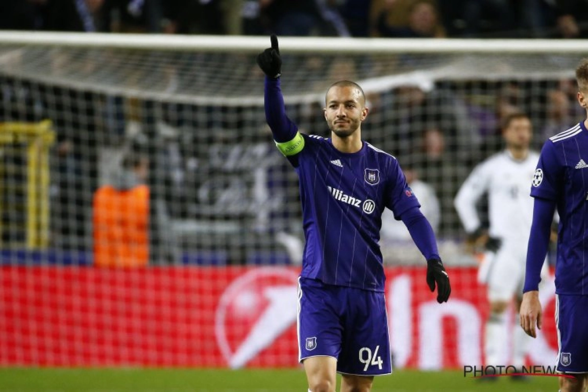
<svg viewBox="0 0 588 392"><path fill-rule="evenodd" d="M482 364L487 314L476 269L449 269L439 305L424 267L386 269L397 367ZM0 268L0 365L294 367L296 279L289 267ZM553 364L553 282L529 360ZM505 331L505 360L509 338Z"/></svg>

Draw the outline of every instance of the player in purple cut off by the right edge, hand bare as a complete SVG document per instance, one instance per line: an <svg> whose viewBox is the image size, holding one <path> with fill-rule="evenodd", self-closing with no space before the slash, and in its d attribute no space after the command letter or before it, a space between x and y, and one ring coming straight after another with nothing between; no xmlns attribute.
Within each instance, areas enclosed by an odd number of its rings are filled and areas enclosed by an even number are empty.
<svg viewBox="0 0 588 392"><path fill-rule="evenodd" d="M533 177L533 223L520 307L520 325L532 337L541 329L540 270L557 207L560 222L555 270L557 370L561 392L588 390L588 59L576 68L577 99L586 119L549 138Z"/></svg>

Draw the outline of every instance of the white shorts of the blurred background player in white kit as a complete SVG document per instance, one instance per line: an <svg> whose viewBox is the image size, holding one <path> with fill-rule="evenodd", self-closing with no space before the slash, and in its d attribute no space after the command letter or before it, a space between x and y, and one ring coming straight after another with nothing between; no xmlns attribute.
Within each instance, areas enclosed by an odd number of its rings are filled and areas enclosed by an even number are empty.
<svg viewBox="0 0 588 392"><path fill-rule="evenodd" d="M486 252L478 270L478 281L487 284L490 301L510 301L522 297L526 269L527 242L504 241L500 249ZM547 277L543 263L542 280Z"/></svg>

